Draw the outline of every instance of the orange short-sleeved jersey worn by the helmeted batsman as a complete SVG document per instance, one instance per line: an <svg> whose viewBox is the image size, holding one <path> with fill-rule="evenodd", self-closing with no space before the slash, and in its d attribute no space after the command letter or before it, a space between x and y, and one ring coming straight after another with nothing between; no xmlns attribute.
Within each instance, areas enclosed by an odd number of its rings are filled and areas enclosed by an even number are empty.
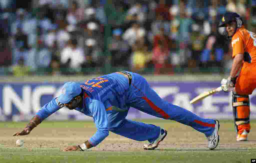
<svg viewBox="0 0 256 163"><path fill-rule="evenodd" d="M232 37L234 58L237 54L244 54L244 61L256 63L256 34L242 26Z"/></svg>

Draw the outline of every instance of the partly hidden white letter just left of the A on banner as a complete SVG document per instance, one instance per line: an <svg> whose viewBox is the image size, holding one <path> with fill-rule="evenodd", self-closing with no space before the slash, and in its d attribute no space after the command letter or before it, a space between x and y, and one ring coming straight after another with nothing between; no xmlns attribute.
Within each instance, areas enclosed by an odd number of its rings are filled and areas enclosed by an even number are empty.
<svg viewBox="0 0 256 163"><path fill-rule="evenodd" d="M174 86L174 87L170 87L170 86L166 86L166 87L152 87L152 89L161 97L161 98L165 98L166 96L170 95L170 94L176 94L179 92L179 87Z"/></svg>

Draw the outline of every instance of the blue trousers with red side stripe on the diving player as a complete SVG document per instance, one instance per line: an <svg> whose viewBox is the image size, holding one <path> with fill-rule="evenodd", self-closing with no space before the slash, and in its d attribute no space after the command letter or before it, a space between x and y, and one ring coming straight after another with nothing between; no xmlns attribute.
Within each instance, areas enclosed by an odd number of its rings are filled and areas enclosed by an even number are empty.
<svg viewBox="0 0 256 163"><path fill-rule="evenodd" d="M201 118L184 108L164 101L150 87L145 78L137 73L127 72L132 75L132 83L127 92L127 106L156 117L180 122L204 133L206 136L212 134L215 129L215 120ZM153 142L158 138L160 127L125 119L127 113L128 110L108 113L111 132L136 141L148 140Z"/></svg>

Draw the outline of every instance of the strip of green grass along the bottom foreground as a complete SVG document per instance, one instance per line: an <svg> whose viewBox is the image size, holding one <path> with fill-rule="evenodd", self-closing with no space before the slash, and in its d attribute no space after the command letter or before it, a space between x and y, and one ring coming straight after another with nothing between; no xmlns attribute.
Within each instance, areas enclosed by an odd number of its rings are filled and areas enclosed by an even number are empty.
<svg viewBox="0 0 256 163"><path fill-rule="evenodd" d="M249 163L255 158L255 149L230 151L223 149L218 151L207 150L175 150L146 152L60 152L59 149L35 148L33 151L26 149L0 148L0 160L5 162L233 162Z"/></svg>

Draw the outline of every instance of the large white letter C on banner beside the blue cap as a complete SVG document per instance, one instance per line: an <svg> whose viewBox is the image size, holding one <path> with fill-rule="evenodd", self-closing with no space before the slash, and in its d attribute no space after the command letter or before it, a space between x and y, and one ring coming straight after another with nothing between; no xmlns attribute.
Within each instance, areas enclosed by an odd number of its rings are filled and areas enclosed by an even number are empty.
<svg viewBox="0 0 256 163"><path fill-rule="evenodd" d="M32 94L33 99L33 111L37 112L42 107L40 104L40 99L42 95L48 94L53 95L56 91L56 88L54 86L37 86Z"/></svg>

